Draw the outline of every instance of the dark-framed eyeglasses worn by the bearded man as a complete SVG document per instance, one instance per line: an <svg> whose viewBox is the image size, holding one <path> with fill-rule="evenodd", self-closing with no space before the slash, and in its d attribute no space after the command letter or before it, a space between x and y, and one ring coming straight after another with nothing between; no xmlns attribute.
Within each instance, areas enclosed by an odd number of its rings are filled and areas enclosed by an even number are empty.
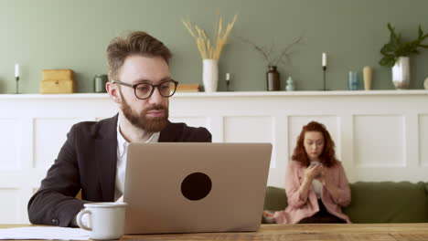
<svg viewBox="0 0 428 241"><path fill-rule="evenodd" d="M178 82L176 80L164 81L157 85L152 85L150 83L138 83L138 84L128 84L119 80L113 80L113 84L119 84L134 89L135 97L140 100L149 99L155 92L155 88L159 90L159 94L165 98L171 97L176 93Z"/></svg>

